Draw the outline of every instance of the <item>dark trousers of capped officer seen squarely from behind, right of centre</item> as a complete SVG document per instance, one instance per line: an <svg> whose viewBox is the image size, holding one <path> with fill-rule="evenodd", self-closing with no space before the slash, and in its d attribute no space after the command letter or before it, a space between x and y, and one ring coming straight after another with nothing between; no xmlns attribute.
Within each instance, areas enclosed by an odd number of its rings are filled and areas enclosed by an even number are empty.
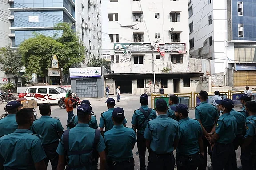
<svg viewBox="0 0 256 170"><path fill-rule="evenodd" d="M148 170L174 170L173 153L156 154L153 151L148 156Z"/></svg>

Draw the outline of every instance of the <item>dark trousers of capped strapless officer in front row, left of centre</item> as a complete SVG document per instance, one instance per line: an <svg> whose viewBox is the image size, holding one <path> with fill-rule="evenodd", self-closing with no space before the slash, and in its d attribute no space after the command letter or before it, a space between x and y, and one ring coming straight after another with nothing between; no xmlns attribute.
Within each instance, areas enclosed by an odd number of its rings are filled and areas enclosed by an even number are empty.
<svg viewBox="0 0 256 170"><path fill-rule="evenodd" d="M126 161L117 162L108 160L108 169L109 170L134 170L134 159L129 158Z"/></svg>

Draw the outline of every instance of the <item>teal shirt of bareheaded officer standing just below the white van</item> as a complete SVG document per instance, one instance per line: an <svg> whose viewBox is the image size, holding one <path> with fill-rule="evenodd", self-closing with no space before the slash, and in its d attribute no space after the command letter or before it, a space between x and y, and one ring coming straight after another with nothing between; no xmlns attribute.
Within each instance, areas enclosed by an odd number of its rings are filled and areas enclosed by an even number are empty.
<svg viewBox="0 0 256 170"><path fill-rule="evenodd" d="M43 145L60 140L58 132L63 131L60 120L50 116L41 116L40 119L33 122L31 129L33 133L42 136Z"/></svg>

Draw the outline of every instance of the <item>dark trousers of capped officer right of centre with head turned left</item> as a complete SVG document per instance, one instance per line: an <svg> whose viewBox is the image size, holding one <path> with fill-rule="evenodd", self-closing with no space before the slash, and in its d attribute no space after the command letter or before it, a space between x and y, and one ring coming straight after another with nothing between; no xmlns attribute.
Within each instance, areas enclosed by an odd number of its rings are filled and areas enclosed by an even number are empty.
<svg viewBox="0 0 256 170"><path fill-rule="evenodd" d="M176 162L178 170L197 170L203 165L204 158L200 157L200 154L183 155L176 154Z"/></svg>

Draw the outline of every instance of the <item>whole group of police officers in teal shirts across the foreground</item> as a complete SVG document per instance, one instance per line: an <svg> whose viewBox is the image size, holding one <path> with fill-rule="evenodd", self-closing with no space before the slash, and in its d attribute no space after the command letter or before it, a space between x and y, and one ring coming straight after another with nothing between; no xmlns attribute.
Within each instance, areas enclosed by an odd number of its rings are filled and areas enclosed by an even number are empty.
<svg viewBox="0 0 256 170"><path fill-rule="evenodd" d="M178 170L205 170L207 154L213 170L236 170L239 146L243 170L253 170L256 102L242 95L244 108L238 112L230 99L216 100L216 107L208 104L207 92L201 91L199 98L196 119L191 119L177 96L169 97L169 108L160 98L152 109L143 94L132 127L126 127L123 108L115 108L115 100L108 98L100 130L90 102L83 100L64 132L60 120L50 117L49 104L40 104L42 116L34 120L32 109L11 101L8 116L0 120L0 169L46 170L50 161L52 170L96 170L100 158L100 170L134 170L132 150L137 143L140 170L146 170L147 149L148 170L173 170L174 150Z"/></svg>

